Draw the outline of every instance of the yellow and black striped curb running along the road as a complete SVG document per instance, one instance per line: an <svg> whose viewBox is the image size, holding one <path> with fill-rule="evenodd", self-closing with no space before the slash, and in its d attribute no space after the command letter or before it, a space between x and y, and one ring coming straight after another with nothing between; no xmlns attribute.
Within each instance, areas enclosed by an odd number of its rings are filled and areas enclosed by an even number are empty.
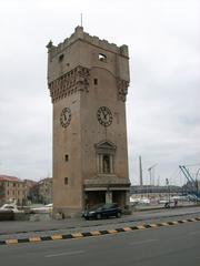
<svg viewBox="0 0 200 266"><path fill-rule="evenodd" d="M57 234L57 235L50 235L50 236L32 236L32 237L26 237L26 238L19 238L19 239L13 238L13 239L0 241L0 245L14 245L20 243L40 243L46 241L60 241L60 239L76 239L76 238L83 238L83 237L91 237L91 236L100 236L100 235L118 234L118 233L131 232L131 231L156 228L156 227L169 226L169 225L178 225L178 224L184 224L190 222L200 222L200 217L178 219L178 221L164 222L164 223L158 223L158 224L142 224L137 226L113 228L113 229L106 229L106 231L91 231L91 232L72 233L72 234L64 234L64 235Z"/></svg>

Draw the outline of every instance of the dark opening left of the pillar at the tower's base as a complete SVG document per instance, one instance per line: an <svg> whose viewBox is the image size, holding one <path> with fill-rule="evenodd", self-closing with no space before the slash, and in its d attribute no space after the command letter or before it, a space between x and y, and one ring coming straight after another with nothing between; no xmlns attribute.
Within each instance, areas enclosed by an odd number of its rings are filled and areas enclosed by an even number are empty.
<svg viewBox="0 0 200 266"><path fill-rule="evenodd" d="M88 191L86 192L86 208L90 208L97 204L106 203L104 191Z"/></svg>

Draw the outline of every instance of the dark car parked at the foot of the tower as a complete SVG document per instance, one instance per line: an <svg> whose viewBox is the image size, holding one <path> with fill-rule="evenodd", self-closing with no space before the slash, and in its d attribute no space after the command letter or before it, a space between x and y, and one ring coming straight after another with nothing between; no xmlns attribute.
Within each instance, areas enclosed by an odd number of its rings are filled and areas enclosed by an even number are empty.
<svg viewBox="0 0 200 266"><path fill-rule="evenodd" d="M86 209L82 215L86 219L109 218L111 216L121 217L121 208L117 203L103 203Z"/></svg>

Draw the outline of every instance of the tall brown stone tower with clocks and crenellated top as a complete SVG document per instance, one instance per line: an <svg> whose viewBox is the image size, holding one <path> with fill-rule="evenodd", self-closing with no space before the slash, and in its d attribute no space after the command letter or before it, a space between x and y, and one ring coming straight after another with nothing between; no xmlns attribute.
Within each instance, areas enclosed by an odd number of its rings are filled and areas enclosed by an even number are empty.
<svg viewBox="0 0 200 266"><path fill-rule="evenodd" d="M79 215L87 206L129 204L126 96L128 47L77 27L48 48L53 104L53 212Z"/></svg>

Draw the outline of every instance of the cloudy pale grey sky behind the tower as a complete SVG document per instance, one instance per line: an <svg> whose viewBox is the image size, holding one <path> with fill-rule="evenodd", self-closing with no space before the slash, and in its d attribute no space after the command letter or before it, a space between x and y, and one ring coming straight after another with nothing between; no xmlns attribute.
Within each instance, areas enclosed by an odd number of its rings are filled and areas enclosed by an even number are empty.
<svg viewBox="0 0 200 266"><path fill-rule="evenodd" d="M199 0L0 0L0 173L40 180L52 171L47 49L80 24L129 45L129 166L144 183L182 184L179 164L200 163ZM191 166L197 173L200 165Z"/></svg>

